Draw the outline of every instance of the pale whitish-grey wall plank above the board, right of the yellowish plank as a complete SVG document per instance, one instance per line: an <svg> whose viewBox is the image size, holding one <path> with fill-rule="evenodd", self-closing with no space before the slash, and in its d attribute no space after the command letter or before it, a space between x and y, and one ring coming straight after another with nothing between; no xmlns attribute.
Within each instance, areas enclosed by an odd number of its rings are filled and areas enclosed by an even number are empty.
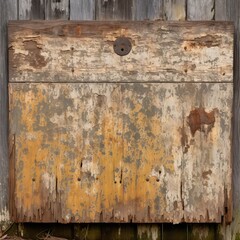
<svg viewBox="0 0 240 240"><path fill-rule="evenodd" d="M187 20L214 20L214 0L187 0Z"/></svg>

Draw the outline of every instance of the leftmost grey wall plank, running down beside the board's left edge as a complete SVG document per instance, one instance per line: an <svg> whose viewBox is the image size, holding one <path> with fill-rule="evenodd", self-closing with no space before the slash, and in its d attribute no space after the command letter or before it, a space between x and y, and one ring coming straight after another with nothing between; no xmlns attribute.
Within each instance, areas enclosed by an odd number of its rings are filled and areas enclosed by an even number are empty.
<svg viewBox="0 0 240 240"><path fill-rule="evenodd" d="M8 214L7 21L17 19L17 0L0 0L0 222Z"/></svg>

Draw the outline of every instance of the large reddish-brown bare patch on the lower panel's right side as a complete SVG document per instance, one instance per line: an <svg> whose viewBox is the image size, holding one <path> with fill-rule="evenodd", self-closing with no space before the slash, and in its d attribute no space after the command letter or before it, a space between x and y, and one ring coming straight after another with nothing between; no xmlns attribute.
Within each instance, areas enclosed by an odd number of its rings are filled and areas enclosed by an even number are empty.
<svg viewBox="0 0 240 240"><path fill-rule="evenodd" d="M195 108L188 116L188 125L192 136L196 131L208 133L214 127L215 110L207 113L204 108ZM206 127L207 126L207 127Z"/></svg>

